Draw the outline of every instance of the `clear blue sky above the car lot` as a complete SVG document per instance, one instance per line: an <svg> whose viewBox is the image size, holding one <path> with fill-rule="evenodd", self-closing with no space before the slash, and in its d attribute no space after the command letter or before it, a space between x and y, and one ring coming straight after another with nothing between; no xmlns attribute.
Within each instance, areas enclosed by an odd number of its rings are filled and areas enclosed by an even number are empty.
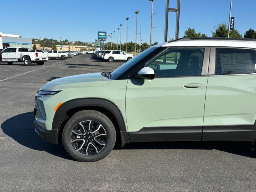
<svg viewBox="0 0 256 192"><path fill-rule="evenodd" d="M176 0L170 2L174 6ZM211 37L214 26L228 23L229 6L230 0L181 0L179 37L188 27ZM0 31L3 33L28 38L58 39L62 36L69 41L84 42L94 41L97 31L107 31L108 34L117 31L120 23L123 24L122 42L125 42L126 17L130 17L128 41L135 41L135 10L139 10L138 22L142 24L138 24L138 33L141 25L141 38L144 42L150 41L151 2L148 0L15 0L12 4L2 0L1 7ZM256 0L233 0L235 29L242 34L249 28L256 29L255 7ZM153 28L153 42L163 42L164 9L165 0L154 0L153 26L156 28ZM174 38L174 13L170 14L169 21L168 38Z"/></svg>

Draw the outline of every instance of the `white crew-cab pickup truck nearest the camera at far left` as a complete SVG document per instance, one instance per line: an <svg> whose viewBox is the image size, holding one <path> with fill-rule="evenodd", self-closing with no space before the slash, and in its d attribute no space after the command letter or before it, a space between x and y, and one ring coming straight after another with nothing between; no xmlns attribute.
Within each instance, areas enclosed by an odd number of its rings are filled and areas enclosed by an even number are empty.
<svg viewBox="0 0 256 192"><path fill-rule="evenodd" d="M48 55L44 52L29 52L28 48L8 47L2 50L2 61L12 65L14 62L24 62L25 66L32 63L43 65L48 61Z"/></svg>

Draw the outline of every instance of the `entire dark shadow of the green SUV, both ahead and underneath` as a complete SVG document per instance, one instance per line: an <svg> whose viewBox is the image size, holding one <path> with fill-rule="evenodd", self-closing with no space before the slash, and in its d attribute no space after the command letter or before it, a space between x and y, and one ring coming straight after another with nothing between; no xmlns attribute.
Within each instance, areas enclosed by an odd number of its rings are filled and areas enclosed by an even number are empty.
<svg viewBox="0 0 256 192"><path fill-rule="evenodd" d="M52 155L73 160L64 150L62 144L51 144L44 141L34 128L33 112L13 116L1 124L3 132L19 144L28 148L45 151ZM127 143L124 148L114 150L166 150L166 149L192 149L192 150L220 150L240 156L256 158L251 142L215 141L215 142L136 142Z"/></svg>

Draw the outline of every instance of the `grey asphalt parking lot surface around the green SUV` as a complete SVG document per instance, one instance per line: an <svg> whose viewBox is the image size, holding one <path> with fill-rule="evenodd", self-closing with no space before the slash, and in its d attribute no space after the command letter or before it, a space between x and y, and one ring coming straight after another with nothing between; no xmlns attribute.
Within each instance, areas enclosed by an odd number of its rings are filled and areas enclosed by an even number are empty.
<svg viewBox="0 0 256 192"><path fill-rule="evenodd" d="M0 65L0 191L256 190L256 151L247 142L133 143L88 163L36 134L32 111L42 85L121 64L80 55L43 66Z"/></svg>

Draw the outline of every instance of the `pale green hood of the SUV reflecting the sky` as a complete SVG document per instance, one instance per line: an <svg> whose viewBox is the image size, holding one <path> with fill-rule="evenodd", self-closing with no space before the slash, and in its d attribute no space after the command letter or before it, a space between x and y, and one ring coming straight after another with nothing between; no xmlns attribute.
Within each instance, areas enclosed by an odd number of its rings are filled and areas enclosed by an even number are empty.
<svg viewBox="0 0 256 192"><path fill-rule="evenodd" d="M89 73L74 76L67 76L54 79L40 88L40 90L63 90L67 88L84 88L90 86L103 86L108 84L110 79L100 73Z"/></svg>

